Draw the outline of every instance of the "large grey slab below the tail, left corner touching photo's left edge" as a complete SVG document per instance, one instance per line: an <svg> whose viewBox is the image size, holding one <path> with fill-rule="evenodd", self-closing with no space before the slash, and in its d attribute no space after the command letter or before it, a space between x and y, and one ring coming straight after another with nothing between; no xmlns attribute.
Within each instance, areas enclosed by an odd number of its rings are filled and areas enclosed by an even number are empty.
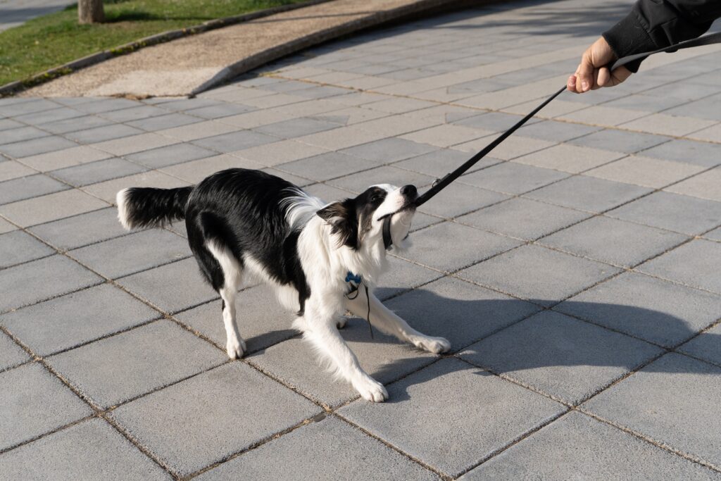
<svg viewBox="0 0 721 481"><path fill-rule="evenodd" d="M102 284L3 314L0 325L38 356L49 356L157 317L130 294Z"/></svg>

